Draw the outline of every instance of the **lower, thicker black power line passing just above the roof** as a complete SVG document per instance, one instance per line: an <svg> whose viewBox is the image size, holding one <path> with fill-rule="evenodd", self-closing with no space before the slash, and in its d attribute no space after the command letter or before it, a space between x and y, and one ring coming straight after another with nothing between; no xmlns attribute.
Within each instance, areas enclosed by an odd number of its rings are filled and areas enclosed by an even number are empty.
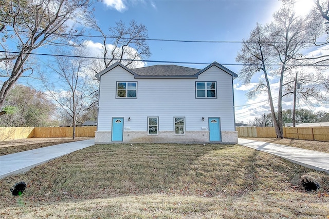
<svg viewBox="0 0 329 219"><path fill-rule="evenodd" d="M74 57L74 58L93 58L93 59L104 59L104 57L95 56L81 56L81 55L61 55L61 54L46 54L46 53L35 53L35 52L13 52L13 51L3 51L3 53L14 53L14 54L30 54L30 55L45 55L45 56L59 56L59 57ZM195 62L177 62L177 61L157 61L157 60L147 60L147 59L129 59L129 58L106 58L114 59L116 61L136 61L136 62L149 62L149 63L173 63L173 64L192 64L192 65L209 65L210 63L195 63ZM223 63L221 65L228 66L257 66L256 64L241 64L241 63ZM267 64L267 66L281 66L280 64ZM285 66L328 66L326 64L286 64Z"/></svg>

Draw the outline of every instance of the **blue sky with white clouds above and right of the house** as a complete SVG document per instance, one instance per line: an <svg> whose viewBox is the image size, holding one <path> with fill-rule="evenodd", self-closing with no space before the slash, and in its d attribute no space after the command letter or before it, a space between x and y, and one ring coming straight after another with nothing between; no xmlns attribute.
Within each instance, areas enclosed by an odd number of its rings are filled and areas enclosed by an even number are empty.
<svg viewBox="0 0 329 219"><path fill-rule="evenodd" d="M149 41L152 52L148 60L188 63L212 63L224 65L239 74L241 66L235 57L241 42L248 38L256 23L266 24L272 14L280 8L278 0L254 1L125 1L104 0L95 5L99 26L107 30L116 21L124 23L134 19L148 29L150 39L174 39L182 41L223 41L225 43L183 43ZM312 6L312 0L298 0L296 11L305 13ZM95 41L96 42L96 41ZM160 63L148 62L145 65ZM230 65L232 64L232 65ZM177 64L203 69L207 65ZM257 79L257 78L256 78ZM275 86L273 86L275 87ZM248 122L255 116L269 113L267 95L247 99L245 93L250 87L234 80L235 114L237 121ZM291 98L283 99L283 108L293 108ZM329 111L327 106L310 108L298 103L297 108Z"/></svg>

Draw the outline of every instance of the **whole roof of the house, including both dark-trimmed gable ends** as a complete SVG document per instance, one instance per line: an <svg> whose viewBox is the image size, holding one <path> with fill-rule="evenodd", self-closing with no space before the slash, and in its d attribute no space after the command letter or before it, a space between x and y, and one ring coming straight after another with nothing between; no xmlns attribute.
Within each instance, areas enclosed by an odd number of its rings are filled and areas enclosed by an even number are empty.
<svg viewBox="0 0 329 219"><path fill-rule="evenodd" d="M184 66L177 66L177 65L154 65L154 66L147 66L142 68L135 68L129 69L122 65L121 63L117 62L103 71L97 73L95 76L100 79L101 75L105 74L106 72L114 69L115 67L120 66L121 68L125 69L126 71L130 72L134 75L135 78L198 78L199 74L202 74L209 68L216 66L220 68L224 72L230 74L233 79L237 77L233 71L229 70L228 68L222 66L221 64L214 62L208 65L204 69L196 69L196 68L189 68Z"/></svg>

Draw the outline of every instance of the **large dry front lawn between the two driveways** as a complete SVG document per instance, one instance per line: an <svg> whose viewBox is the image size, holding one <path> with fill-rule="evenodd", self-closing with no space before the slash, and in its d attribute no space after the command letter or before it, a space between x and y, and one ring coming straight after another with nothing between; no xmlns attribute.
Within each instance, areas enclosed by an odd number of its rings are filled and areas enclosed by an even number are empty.
<svg viewBox="0 0 329 219"><path fill-rule="evenodd" d="M328 174L238 145L95 145L0 180L0 217L327 218L328 194Z"/></svg>

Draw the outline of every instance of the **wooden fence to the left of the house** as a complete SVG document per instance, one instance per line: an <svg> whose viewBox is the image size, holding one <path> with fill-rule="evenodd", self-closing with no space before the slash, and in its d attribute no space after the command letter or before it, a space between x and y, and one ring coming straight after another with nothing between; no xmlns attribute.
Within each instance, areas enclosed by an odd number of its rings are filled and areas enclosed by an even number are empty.
<svg viewBox="0 0 329 219"><path fill-rule="evenodd" d="M76 137L95 137L96 126L76 127ZM72 127L0 127L0 141L31 137L72 137Z"/></svg>

